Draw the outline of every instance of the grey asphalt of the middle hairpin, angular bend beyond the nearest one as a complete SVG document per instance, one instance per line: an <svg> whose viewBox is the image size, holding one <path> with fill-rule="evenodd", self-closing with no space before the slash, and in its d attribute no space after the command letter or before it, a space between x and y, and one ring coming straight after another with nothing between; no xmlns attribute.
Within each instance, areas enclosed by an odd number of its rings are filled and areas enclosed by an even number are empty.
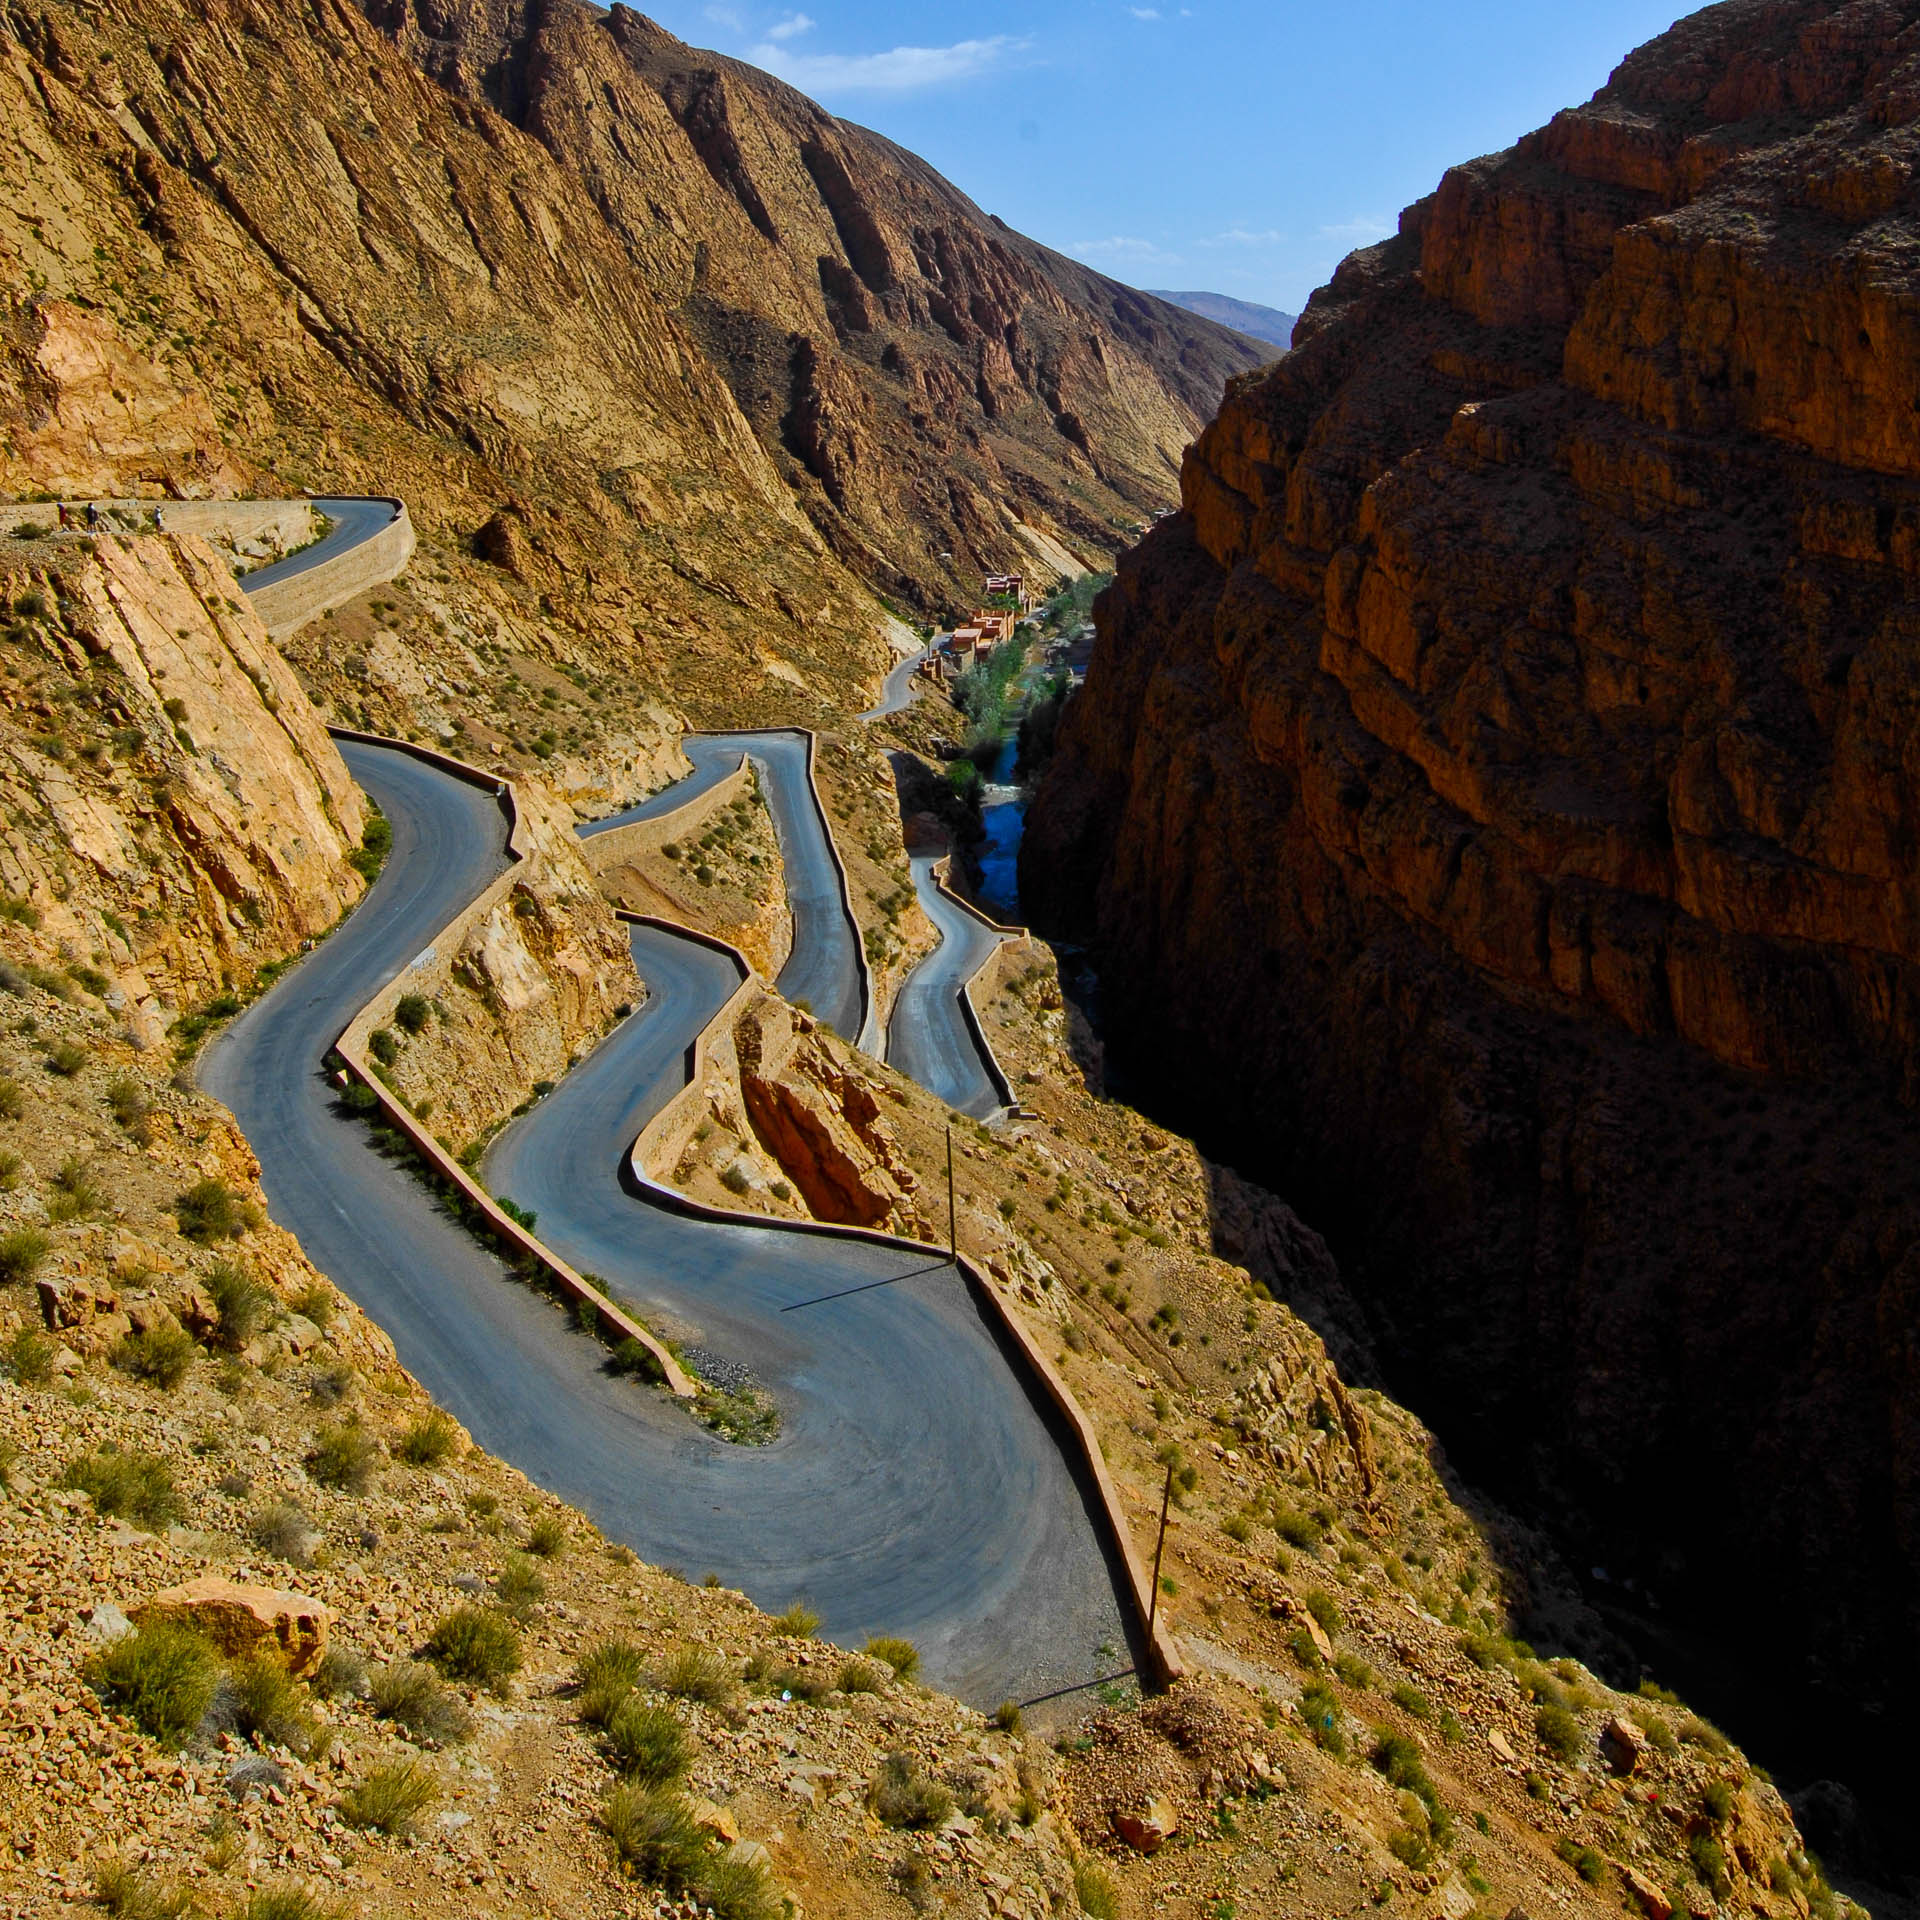
<svg viewBox="0 0 1920 1920"><path fill-rule="evenodd" d="M839 866L806 778L804 733L687 733L682 741L693 772L626 812L580 828L582 837L653 820L726 780L747 755L760 774L760 793L774 816L780 858L793 910L793 952L774 983L789 1000L804 1000L841 1039L866 1044L866 975L860 937L847 914Z"/></svg>

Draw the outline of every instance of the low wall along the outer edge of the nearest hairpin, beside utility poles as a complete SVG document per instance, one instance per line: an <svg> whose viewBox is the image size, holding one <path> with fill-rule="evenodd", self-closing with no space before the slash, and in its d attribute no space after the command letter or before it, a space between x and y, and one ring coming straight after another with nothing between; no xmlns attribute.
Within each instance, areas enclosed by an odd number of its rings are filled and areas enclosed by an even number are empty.
<svg viewBox="0 0 1920 1920"><path fill-rule="evenodd" d="M712 1206L707 1200L695 1200L691 1194L682 1192L678 1187L670 1187L666 1181L660 1181L647 1171L649 1156L666 1144L687 1123L687 1102L699 1104L703 1098L707 1056L714 1039L732 1025L741 1006L756 989L764 991L764 983L753 972L751 962L737 947L730 947L712 933L701 933L697 927L682 927L672 920L659 920L653 914L630 914L622 908L614 908L614 912L620 920L659 927L662 933L670 933L678 939L693 941L699 947L708 947L714 952L728 954L741 973L739 985L728 995L722 1006L716 1008L712 1018L701 1027L687 1046L685 1085L666 1102L666 1106L660 1108L659 1114L653 1116L653 1119L647 1121L645 1127L641 1127L641 1131L634 1137L634 1144L628 1148L628 1175L639 1194L655 1206L670 1208L689 1219L712 1221L714 1225L760 1227L766 1233L803 1233L824 1240L866 1240L870 1246L889 1246L902 1254L924 1256L933 1252L945 1256L947 1248L939 1244L927 1240L908 1240L904 1235L879 1233L874 1227L843 1227L824 1219L776 1219L768 1213L749 1213L743 1208ZM1104 1523L1108 1542L1119 1555L1119 1563L1127 1572L1127 1599L1133 1605L1135 1624L1146 1645L1146 1661L1152 1668L1150 1678L1158 1686L1171 1686L1187 1672L1187 1661L1154 1607L1152 1574L1135 1551L1133 1532L1127 1526L1127 1511L1121 1503L1119 1488L1114 1484L1114 1476L1106 1471L1106 1455L1100 1452L1100 1436L1094 1432L1092 1421L1089 1421L1081 1411L1079 1402L1073 1398L1073 1390L1054 1369L1054 1363L1041 1350L1041 1344L1031 1332L1027 1332L1025 1321L1014 1311L1012 1302L1006 1300L993 1279L981 1273L981 1269L975 1267L964 1254L954 1260L954 1265L973 1292L973 1298L987 1308L995 1325L1006 1332L1027 1369L1041 1382L1041 1390L1066 1421L1079 1452L1081 1465L1087 1469L1098 1496L1100 1521Z"/></svg>

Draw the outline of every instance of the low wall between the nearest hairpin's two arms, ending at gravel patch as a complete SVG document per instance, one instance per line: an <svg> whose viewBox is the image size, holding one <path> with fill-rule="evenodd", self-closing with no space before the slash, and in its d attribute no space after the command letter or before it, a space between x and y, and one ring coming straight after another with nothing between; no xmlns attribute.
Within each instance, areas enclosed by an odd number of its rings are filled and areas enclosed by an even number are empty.
<svg viewBox="0 0 1920 1920"><path fill-rule="evenodd" d="M396 753L409 753L413 758L424 760L428 766L438 766L444 774L451 774L455 780L465 780L470 785L484 787L488 793L497 795L505 806L511 822L507 851L513 854L515 864L434 935L434 947L442 952L455 952L468 929L484 920L513 891L515 883L520 879L520 862L524 862L532 852L526 822L522 818L513 781L497 780L493 774L484 774L480 768L468 766L465 760L455 760L447 753L440 753L432 747L420 747L415 741L390 739L386 733L363 733L357 728L344 726L334 726L326 732L332 733L334 739L349 739L367 747L388 747ZM346 1060L357 1079L372 1089L388 1123L407 1137L415 1152L419 1152L419 1156L432 1167L438 1179L457 1188L461 1198L467 1200L474 1213L486 1223L488 1233L493 1235L495 1240L507 1246L513 1254L532 1260L538 1267L545 1269L555 1288L576 1308L591 1308L599 1332L605 1338L614 1342L637 1340L659 1363L666 1386L678 1398L691 1400L695 1386L687 1379L685 1369L645 1327L645 1323L636 1319L616 1300L603 1294L591 1281L576 1273L564 1260L561 1260L553 1248L505 1213L499 1202L440 1144L438 1139L434 1139L432 1133L428 1133L407 1104L380 1079L378 1073L374 1073L367 1060L367 1035L372 1033L376 1025L392 1018L394 1006L399 1002L405 985L407 970L403 968L353 1016L353 1020L348 1021L346 1031L334 1043L334 1052Z"/></svg>

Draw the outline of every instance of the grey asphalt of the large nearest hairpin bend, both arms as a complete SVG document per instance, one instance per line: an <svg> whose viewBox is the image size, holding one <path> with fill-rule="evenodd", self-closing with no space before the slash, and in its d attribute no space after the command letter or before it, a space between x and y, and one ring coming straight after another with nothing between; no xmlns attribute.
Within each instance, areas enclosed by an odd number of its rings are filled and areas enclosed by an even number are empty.
<svg viewBox="0 0 1920 1920"><path fill-rule="evenodd" d="M493 799L392 749L344 743L394 826L353 916L213 1044L276 1221L394 1338L480 1446L645 1559L712 1571L843 1642L904 1632L927 1676L993 1705L1083 1684L1127 1647L1091 1488L950 1267L858 1242L695 1223L620 1185L641 1121L732 966L637 929L649 998L493 1146L497 1190L557 1252L670 1336L745 1363L780 1438L732 1446L605 1350L365 1144L321 1069L351 1014L507 866ZM872 1286L908 1275L900 1284ZM849 1286L868 1292L780 1309Z"/></svg>

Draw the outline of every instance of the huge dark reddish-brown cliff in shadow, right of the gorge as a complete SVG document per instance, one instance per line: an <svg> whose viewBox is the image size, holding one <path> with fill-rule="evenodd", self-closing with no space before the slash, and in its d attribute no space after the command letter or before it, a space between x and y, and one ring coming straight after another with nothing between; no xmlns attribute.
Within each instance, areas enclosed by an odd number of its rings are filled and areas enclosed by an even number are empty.
<svg viewBox="0 0 1920 1920"><path fill-rule="evenodd" d="M1920 6L1734 0L1448 173L1123 563L1023 866L1463 1457L1868 1699L1920 1599L1916 157Z"/></svg>

